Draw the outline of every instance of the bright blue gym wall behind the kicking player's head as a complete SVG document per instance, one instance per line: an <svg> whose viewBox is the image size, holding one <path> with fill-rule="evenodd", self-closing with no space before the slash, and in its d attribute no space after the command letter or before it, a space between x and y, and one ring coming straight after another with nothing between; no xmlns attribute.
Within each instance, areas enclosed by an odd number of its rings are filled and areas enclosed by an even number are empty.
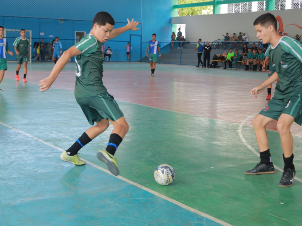
<svg viewBox="0 0 302 226"><path fill-rule="evenodd" d="M14 3L13 3L14 2ZM22 7L15 7L18 2ZM79 2L77 4L77 2ZM126 61L127 42L130 41L131 35L142 35L142 41L151 39L153 33L157 33L158 40L164 39L164 27L171 27L171 9L172 0L163 1L141 1L128 0L126 1L108 1L100 4L100 1L91 0L85 1L44 1L30 0L23 5L23 0L5 1L2 3L1 15L5 16L21 16L21 17L40 17L40 18L56 18L49 19L34 19L34 18L14 18L1 17L0 25L4 25L6 29L26 29L32 31L32 45L40 38L44 42L51 42L56 36L60 38L63 45L63 51L74 45L74 32L85 31L88 34L91 30L92 20L95 14L99 11L109 12L117 22L114 28L125 26L127 18L134 18L136 21L143 23L139 25L140 30L128 31L112 41L107 42L106 47L110 46L113 49L112 61ZM142 11L141 11L142 9ZM142 17L141 17L142 12ZM60 22L58 18L63 20ZM89 21L68 21L73 20L89 20ZM118 23L124 22L124 23ZM40 35L40 33L44 35ZM50 37L53 36L53 37ZM145 49L140 52L140 38L132 37L131 45L131 61L138 61L140 53L142 57L145 55ZM117 42L122 41L122 42ZM10 40L10 49L13 50L12 41Z"/></svg>

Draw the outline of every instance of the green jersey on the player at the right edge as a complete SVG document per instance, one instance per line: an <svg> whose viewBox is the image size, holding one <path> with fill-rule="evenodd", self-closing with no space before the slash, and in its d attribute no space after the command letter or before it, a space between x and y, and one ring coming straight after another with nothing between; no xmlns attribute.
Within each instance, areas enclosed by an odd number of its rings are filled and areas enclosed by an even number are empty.
<svg viewBox="0 0 302 226"><path fill-rule="evenodd" d="M274 97L284 99L302 93L302 45L289 37L282 36L275 47L269 46L272 66L280 81Z"/></svg>

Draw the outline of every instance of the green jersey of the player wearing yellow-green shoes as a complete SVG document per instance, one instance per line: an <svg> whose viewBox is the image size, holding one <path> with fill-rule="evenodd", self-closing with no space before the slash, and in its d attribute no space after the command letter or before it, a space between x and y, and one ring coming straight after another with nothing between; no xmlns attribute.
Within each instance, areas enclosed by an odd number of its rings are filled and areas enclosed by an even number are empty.
<svg viewBox="0 0 302 226"><path fill-rule="evenodd" d="M77 63L75 97L89 97L107 92L103 78L103 51L102 43L89 34L74 45L82 53L75 57Z"/></svg>

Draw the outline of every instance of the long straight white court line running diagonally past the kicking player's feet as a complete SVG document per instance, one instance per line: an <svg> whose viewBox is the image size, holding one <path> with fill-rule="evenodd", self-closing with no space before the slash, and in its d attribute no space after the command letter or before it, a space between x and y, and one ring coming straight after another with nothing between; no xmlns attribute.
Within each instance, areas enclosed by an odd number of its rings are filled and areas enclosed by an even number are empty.
<svg viewBox="0 0 302 226"><path fill-rule="evenodd" d="M27 136L27 137L30 137L30 138L32 138L32 139L34 139L34 140L36 140L36 141L39 141L39 142L41 142L42 144L45 144L45 145L47 145L47 146L49 146L49 147L52 147L52 148L54 148L54 149L56 149L56 150L59 150L59 151L61 151L61 152L65 151L65 150L63 150L63 149L61 149L61 148L58 148L58 147L56 147L56 146L54 146L54 145L52 145L52 144L49 144L49 143L47 143L47 142L45 142L45 141L43 141L43 140L41 140L41 139L39 139L39 138L36 138L36 137L34 137L34 136L30 135L30 134L27 134L27 133L25 133L25 132L23 132L23 131L21 131L21 130L18 130L18 129L16 129L16 128L14 128L14 127L11 127L11 126L9 126L9 125L7 125L7 124L5 124L5 123L0 122L0 124L3 125L3 126L5 126L5 127L8 127L8 128L10 128L10 129L12 129L12 130L15 130L15 131L17 131L18 133L21 133L21 134L23 134L23 135L25 135L25 136ZM112 175L112 174L110 173L109 170L106 170L106 169L104 169L104 168L102 168L102 167L100 167L100 166L98 166L98 165L96 165L96 164L94 164L94 163L92 163L92 162L89 162L89 161L87 161L87 160L85 160L85 159L83 159L83 158L81 158L81 159L82 159L83 161L85 161L86 163L88 163L89 165L91 165L91 166L93 166L93 167L95 167L95 168L97 168L97 169L99 169L99 170L102 170L103 172L108 173L108 174L110 174L111 176L114 176L114 175ZM184 209L187 209L187 210L189 210L189 211L191 211L191 212L194 212L194 213L196 213L196 214L198 214L198 215L201 215L201 216L203 216L203 217L206 217L206 218L208 218L208 219L210 219L210 220L213 220L213 221L215 221L215 222L217 222L217 223L220 223L220 224L225 225L225 226L232 226L232 225L229 224L229 223L226 223L226 222L224 222L224 221L222 221L222 220L219 220L219 219L217 219L217 218L215 218L215 217L213 217L213 216L210 216L210 215L208 215L208 214L206 214L206 213L204 213L204 212L201 212L201 211L199 211L199 210L197 210L197 209L191 208L190 206L187 206L187 205L185 205L185 204L183 204L183 203L181 203L181 202L178 202L178 201L176 201L176 200L174 200L174 199L172 199L172 198L169 198L169 197L167 197L167 196L165 196L165 195L163 195L163 194L161 194L161 193L158 193L158 192L153 191L153 190L151 190L151 189L149 189L149 188L146 188L146 187L144 187L144 186L142 186L142 185L140 185L140 184L138 184L138 183L135 183L135 182L133 182L133 181L131 181L131 180L128 180L128 179L126 179L126 178L124 178L124 177L122 177L122 176L114 176L114 177L117 177L117 178L119 178L119 179L121 179L121 180L123 180L123 181L125 181L125 182L127 182L127 183L129 183L129 184L132 184L132 185L134 185L134 186L136 186L136 187L138 187L138 188L141 188L141 189L143 189L143 190L145 190L145 191L147 191L147 192L149 192L149 193L152 193L152 194L154 194L154 195L156 195L156 196L159 196L159 197L161 197L161 198L163 198L163 199L165 199L165 200L167 200L167 201L169 201L169 202L172 202L172 203L174 203L174 204L176 204L176 205L178 205L178 206L180 206L180 207L182 207L182 208L184 208Z"/></svg>

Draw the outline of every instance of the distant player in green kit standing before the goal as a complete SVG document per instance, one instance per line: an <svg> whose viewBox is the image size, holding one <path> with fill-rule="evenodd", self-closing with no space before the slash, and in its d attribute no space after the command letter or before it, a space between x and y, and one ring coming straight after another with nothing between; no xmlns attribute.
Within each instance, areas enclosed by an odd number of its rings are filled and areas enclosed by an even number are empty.
<svg viewBox="0 0 302 226"><path fill-rule="evenodd" d="M26 31L24 29L21 29L20 35L21 37L18 37L13 44L15 46L15 52L17 54L16 57L17 57L17 64L18 64L16 68L16 80L19 81L19 70L23 63L23 69L24 69L23 82L27 82L26 74L27 74L29 41L27 38L25 38Z"/></svg>

